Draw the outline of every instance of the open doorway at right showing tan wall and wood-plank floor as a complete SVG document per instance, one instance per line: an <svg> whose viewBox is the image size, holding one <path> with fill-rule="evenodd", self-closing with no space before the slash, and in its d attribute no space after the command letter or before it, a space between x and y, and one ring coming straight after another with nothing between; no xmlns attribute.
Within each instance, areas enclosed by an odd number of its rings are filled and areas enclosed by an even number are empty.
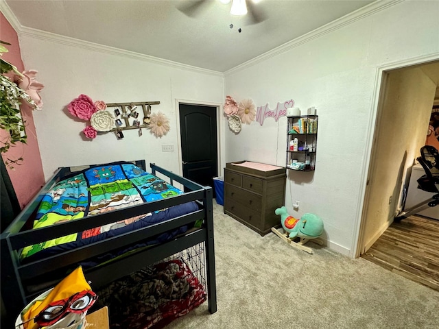
<svg viewBox="0 0 439 329"><path fill-rule="evenodd" d="M383 73L358 251L385 268L417 277L418 282L430 273L436 281L428 282L439 287L439 254L431 245L438 245L439 234L430 233L439 230L439 221L413 216L399 226L393 223L403 210L435 101L439 102L439 61ZM425 249L432 252L427 259L411 252L415 241L427 241Z"/></svg>

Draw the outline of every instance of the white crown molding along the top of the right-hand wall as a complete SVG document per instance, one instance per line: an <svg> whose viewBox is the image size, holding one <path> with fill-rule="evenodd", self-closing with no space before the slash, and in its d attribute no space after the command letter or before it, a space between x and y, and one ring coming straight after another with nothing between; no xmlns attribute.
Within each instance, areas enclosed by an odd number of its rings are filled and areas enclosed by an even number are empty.
<svg viewBox="0 0 439 329"><path fill-rule="evenodd" d="M308 32L307 34L303 34L302 36L299 36L298 38L295 38L291 41L285 42L283 45L280 45L270 51L267 51L266 53L263 53L260 56L257 56L255 58L252 58L251 60L248 60L247 62L239 64L238 66L235 66L233 69L225 71L224 76L231 75L233 73L237 73L239 71L247 69L248 67L253 66L259 62L278 56L281 53L285 53L286 51L289 51L293 48L303 45L306 42L319 38L324 34L333 32L336 29L340 29L341 27L359 21L360 19L364 19L364 17L375 14L376 12L380 12L381 10L390 8L393 5L396 5L403 1L405 0L392 0L392 1L377 0L375 2L372 2L369 5L364 6L363 8L359 8L358 10L355 10L355 12L351 12L349 14L346 14L345 16L340 17L340 19L336 19L335 21L327 23L326 25L323 25L321 27L318 27L317 29Z"/></svg>

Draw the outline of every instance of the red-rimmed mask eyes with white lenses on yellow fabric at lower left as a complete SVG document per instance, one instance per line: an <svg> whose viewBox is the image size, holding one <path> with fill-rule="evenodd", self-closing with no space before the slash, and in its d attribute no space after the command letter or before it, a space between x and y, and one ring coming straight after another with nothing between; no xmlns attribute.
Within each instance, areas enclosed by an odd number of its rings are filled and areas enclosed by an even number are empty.
<svg viewBox="0 0 439 329"><path fill-rule="evenodd" d="M67 313L84 313L95 304L96 300L97 295L91 290L75 293L64 300L51 302L35 317L34 321L42 327L51 326Z"/></svg>

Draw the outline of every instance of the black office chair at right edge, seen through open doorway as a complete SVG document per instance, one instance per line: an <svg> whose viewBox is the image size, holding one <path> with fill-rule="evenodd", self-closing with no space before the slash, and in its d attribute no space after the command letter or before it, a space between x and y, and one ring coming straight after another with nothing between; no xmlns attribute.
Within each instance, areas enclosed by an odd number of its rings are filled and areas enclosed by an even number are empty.
<svg viewBox="0 0 439 329"><path fill-rule="evenodd" d="M409 208L403 210L394 218L395 221L401 221L411 215L414 215L429 207L435 207L439 204L439 151L436 147L425 145L420 149L420 157L416 158L425 171L418 179L418 188L423 191L431 192L433 195L424 202L420 202ZM438 210L439 211L439 210Z"/></svg>

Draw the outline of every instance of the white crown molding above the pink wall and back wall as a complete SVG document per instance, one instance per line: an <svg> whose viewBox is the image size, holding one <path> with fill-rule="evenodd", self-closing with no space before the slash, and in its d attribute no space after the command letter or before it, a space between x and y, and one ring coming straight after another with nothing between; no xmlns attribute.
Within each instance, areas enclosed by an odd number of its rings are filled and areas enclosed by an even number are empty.
<svg viewBox="0 0 439 329"><path fill-rule="evenodd" d="M1 12L3 12L3 15L5 16L5 18L8 19L8 21L10 22L12 27L14 27L16 33L19 36L29 36L31 38L37 38L37 39L41 39L41 40L48 40L51 42L56 42L56 43L61 44L61 45L67 45L67 46L72 46L72 47L77 47L77 48L82 48L82 49L88 49L91 51L99 51L101 53L108 53L110 55L132 58L135 60L143 60L145 62L151 62L154 64L161 64L161 65L165 65L167 67L171 66L171 67L174 67L176 69L183 69L186 71L193 71L196 73L204 73L207 75L217 75L219 77L224 77L224 73L219 72L219 71L202 69L202 68L197 67L197 66L181 64L181 63L174 62L171 60L165 60L163 58L148 56L148 55L144 55L142 53L136 53L134 51L128 51L128 50L119 49L119 48L115 48L115 47L99 45L95 42L89 42L89 41L85 41L85 40L71 38L69 36L61 36L60 34L45 32L45 31L42 31L40 29L34 29L32 27L25 27L19 23L18 19L16 19L16 16L12 12L12 10L10 10L8 4L5 3L4 0L0 0L0 9L1 9Z"/></svg>

